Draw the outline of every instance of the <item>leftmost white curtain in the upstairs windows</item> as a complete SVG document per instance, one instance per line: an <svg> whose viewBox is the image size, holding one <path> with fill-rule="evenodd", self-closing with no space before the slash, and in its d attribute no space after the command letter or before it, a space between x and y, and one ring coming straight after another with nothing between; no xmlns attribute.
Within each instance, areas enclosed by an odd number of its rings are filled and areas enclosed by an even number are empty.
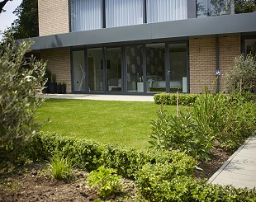
<svg viewBox="0 0 256 202"><path fill-rule="evenodd" d="M102 0L71 0L71 31L102 28Z"/></svg>

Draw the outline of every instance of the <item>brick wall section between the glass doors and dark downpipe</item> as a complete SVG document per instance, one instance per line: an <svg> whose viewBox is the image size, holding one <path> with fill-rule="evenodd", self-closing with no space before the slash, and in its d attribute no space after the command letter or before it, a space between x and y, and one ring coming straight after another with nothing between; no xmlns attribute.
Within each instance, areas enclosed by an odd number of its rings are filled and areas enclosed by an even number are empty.
<svg viewBox="0 0 256 202"><path fill-rule="evenodd" d="M216 92L216 38L189 40L190 92Z"/></svg>

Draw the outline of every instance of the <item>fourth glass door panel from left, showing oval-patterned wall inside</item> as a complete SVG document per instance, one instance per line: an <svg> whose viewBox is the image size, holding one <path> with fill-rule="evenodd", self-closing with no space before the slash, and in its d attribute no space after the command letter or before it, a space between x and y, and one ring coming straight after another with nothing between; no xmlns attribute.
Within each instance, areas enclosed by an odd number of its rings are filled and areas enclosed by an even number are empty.
<svg viewBox="0 0 256 202"><path fill-rule="evenodd" d="M126 47L127 92L144 92L143 46Z"/></svg>

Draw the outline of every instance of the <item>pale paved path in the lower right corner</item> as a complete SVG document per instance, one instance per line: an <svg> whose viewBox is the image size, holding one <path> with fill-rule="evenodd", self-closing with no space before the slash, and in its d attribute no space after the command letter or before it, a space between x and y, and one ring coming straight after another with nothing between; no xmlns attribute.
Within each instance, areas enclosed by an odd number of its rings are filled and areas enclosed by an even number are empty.
<svg viewBox="0 0 256 202"><path fill-rule="evenodd" d="M256 187L256 136L247 139L209 181L236 188Z"/></svg>

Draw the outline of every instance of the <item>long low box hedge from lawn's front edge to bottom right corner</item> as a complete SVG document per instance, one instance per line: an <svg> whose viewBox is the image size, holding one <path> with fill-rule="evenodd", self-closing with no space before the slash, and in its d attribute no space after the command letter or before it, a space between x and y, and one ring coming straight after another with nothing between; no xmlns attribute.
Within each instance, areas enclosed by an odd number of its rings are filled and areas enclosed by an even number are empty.
<svg viewBox="0 0 256 202"><path fill-rule="evenodd" d="M26 148L32 160L50 160L56 153L75 160L88 171L104 166L135 178L140 195L148 201L256 201L256 190L235 189L197 181L197 162L185 153L135 150L73 139L55 133L36 134Z"/></svg>

